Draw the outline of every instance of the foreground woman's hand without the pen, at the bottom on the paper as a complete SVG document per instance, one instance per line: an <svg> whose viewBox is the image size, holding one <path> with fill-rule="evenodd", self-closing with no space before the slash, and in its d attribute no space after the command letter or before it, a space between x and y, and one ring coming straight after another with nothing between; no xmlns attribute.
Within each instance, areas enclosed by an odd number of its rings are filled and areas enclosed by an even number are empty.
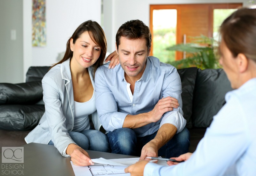
<svg viewBox="0 0 256 176"><path fill-rule="evenodd" d="M131 173L131 176L143 176L144 168L148 164L148 161L139 161L135 164L130 165L124 169L125 173Z"/></svg>

